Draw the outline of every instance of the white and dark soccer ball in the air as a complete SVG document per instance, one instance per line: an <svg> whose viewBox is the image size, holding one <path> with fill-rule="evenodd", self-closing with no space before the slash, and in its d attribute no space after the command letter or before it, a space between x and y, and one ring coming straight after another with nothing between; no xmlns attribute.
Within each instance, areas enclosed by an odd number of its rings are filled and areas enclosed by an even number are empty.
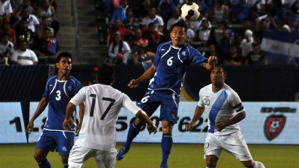
<svg viewBox="0 0 299 168"><path fill-rule="evenodd" d="M185 21L193 21L199 17L199 6L194 2L187 2L181 7L181 17Z"/></svg>

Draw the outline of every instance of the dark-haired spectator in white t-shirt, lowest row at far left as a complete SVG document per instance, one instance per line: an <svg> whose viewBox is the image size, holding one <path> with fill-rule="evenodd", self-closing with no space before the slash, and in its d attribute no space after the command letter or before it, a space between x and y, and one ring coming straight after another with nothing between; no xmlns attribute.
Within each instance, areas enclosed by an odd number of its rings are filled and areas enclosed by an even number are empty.
<svg viewBox="0 0 299 168"><path fill-rule="evenodd" d="M20 49L15 50L11 56L11 64L17 65L36 65L38 60L35 53L27 49L25 40L19 42Z"/></svg>

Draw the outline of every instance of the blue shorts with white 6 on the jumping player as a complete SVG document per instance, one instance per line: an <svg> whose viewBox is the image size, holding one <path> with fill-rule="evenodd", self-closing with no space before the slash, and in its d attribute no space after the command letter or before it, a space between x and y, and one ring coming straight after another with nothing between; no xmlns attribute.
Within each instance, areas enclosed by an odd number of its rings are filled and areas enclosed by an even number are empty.
<svg viewBox="0 0 299 168"><path fill-rule="evenodd" d="M150 117L160 108L160 121L178 121L179 96L171 90L148 90L137 106Z"/></svg>

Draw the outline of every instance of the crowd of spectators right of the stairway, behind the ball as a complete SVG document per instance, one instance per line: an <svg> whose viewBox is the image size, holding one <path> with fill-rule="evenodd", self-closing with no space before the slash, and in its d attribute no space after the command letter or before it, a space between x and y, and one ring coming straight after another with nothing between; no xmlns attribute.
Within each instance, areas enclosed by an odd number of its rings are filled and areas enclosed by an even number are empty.
<svg viewBox="0 0 299 168"><path fill-rule="evenodd" d="M191 0L192 1L192 0ZM116 64L151 62L186 0L106 0L108 56ZM187 43L224 65L267 65L260 52L266 29L299 33L298 0L193 0L200 16L188 24Z"/></svg>

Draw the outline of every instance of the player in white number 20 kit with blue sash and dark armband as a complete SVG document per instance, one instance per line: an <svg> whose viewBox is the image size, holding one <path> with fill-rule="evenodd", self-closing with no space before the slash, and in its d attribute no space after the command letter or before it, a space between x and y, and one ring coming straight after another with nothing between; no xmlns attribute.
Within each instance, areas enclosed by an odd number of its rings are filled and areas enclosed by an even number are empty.
<svg viewBox="0 0 299 168"><path fill-rule="evenodd" d="M186 125L187 131L192 129L206 109L209 128L204 159L207 168L216 168L222 150L234 155L247 168L265 168L261 162L252 159L240 132L237 123L245 118L245 109L239 95L224 83L226 72L223 67L216 64L210 78L212 83L200 89L193 119Z"/></svg>

